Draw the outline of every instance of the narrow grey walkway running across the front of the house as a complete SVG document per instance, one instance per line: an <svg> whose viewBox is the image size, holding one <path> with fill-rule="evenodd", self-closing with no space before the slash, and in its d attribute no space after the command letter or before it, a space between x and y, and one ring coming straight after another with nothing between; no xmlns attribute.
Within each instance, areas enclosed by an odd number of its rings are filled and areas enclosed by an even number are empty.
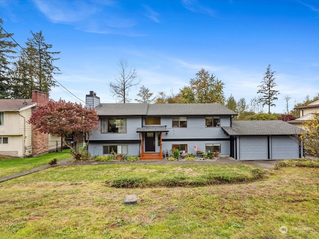
<svg viewBox="0 0 319 239"><path fill-rule="evenodd" d="M70 162L72 158L58 161L57 166L61 165L95 165L95 164L153 164L153 165L168 165L168 164L190 164L190 165L202 165L202 164L217 164L217 165L256 165L263 168L272 168L279 160L235 160L231 157L219 157L216 161L200 160L200 161L168 161L168 160L142 160L136 162L127 161L110 161L110 162L96 162L96 161L83 161L83 162ZM41 171L53 167L51 165L44 165L38 168L34 168L25 172L20 172L12 175L8 175L0 178L0 183L22 177L34 172Z"/></svg>

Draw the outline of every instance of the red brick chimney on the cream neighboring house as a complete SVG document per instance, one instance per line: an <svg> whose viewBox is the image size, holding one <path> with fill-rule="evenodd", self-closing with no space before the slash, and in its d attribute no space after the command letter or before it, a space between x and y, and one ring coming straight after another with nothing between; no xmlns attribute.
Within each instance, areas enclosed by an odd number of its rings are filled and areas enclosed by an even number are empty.
<svg viewBox="0 0 319 239"><path fill-rule="evenodd" d="M38 104L47 104L49 102L49 94L38 89L32 91L32 102ZM49 151L49 135L40 133L33 129L32 125L32 155L39 155Z"/></svg>

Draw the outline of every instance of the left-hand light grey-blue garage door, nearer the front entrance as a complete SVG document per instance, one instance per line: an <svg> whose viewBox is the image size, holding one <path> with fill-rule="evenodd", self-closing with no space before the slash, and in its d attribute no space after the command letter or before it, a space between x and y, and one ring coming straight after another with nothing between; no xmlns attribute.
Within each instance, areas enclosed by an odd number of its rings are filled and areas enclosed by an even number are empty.
<svg viewBox="0 0 319 239"><path fill-rule="evenodd" d="M266 137L240 137L239 159L268 159Z"/></svg>

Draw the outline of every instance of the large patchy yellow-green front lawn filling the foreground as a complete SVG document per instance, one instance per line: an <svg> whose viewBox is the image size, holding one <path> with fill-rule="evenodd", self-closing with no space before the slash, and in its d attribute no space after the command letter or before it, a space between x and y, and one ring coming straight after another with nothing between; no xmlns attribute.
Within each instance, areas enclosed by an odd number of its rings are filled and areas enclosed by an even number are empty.
<svg viewBox="0 0 319 239"><path fill-rule="evenodd" d="M249 183L114 188L123 175L249 175L244 165L53 167L1 183L0 238L319 238L319 168L284 167ZM154 176L151 176L154 175ZM137 194L137 205L124 205ZM287 234L280 228L287 227Z"/></svg>

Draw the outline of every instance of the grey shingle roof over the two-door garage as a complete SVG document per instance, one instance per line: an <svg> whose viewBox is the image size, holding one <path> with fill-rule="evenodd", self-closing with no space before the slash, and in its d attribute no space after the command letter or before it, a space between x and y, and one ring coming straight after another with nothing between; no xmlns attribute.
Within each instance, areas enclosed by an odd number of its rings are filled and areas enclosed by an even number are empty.
<svg viewBox="0 0 319 239"><path fill-rule="evenodd" d="M231 127L222 127L229 135L294 135L300 127L283 120L234 120Z"/></svg>

